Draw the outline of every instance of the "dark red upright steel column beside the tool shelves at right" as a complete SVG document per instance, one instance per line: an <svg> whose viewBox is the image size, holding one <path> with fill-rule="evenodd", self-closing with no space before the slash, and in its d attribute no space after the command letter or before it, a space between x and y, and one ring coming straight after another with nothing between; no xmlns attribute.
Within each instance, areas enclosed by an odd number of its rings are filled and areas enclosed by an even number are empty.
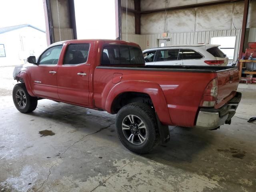
<svg viewBox="0 0 256 192"><path fill-rule="evenodd" d="M239 59L242 59L242 54L244 51L244 40L245 40L246 25L247 25L247 19L248 19L249 2L250 2L250 0L244 1L244 16L243 16L243 23L242 23L239 55L238 55Z"/></svg>

